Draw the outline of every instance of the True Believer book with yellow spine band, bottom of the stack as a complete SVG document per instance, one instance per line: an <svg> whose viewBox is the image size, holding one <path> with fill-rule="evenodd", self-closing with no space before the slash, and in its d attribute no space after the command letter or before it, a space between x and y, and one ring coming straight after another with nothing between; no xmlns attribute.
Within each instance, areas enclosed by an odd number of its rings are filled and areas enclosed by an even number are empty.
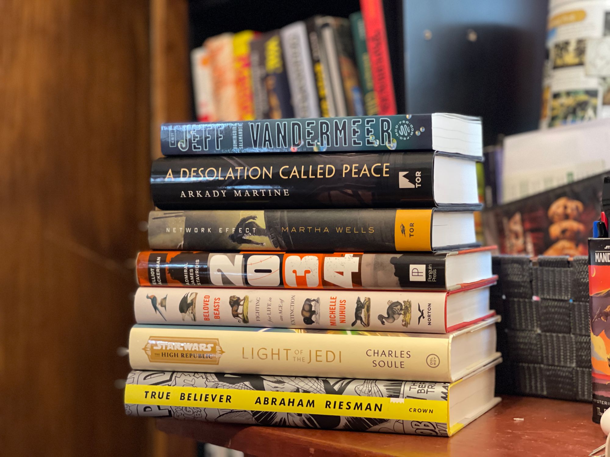
<svg viewBox="0 0 610 457"><path fill-rule="evenodd" d="M134 370L129 416L451 436L500 402L498 358L454 383Z"/></svg>

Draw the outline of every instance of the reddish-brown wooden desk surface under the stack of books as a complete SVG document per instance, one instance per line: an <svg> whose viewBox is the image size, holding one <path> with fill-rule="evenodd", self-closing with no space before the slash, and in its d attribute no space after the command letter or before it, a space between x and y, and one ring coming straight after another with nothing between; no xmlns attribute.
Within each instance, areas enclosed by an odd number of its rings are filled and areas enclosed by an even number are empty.
<svg viewBox="0 0 610 457"><path fill-rule="evenodd" d="M520 418L523 420L515 420ZM306 430L158 419L157 428L246 455L344 456L587 456L605 441L589 403L503 397L451 438Z"/></svg>

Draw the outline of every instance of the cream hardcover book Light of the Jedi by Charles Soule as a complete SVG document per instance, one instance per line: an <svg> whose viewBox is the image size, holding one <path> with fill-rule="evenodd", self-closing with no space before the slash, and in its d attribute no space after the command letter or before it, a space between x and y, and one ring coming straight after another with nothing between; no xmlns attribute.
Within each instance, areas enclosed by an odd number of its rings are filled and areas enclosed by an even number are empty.
<svg viewBox="0 0 610 457"><path fill-rule="evenodd" d="M443 335L136 324L129 363L135 370L453 382L500 356L499 321Z"/></svg>

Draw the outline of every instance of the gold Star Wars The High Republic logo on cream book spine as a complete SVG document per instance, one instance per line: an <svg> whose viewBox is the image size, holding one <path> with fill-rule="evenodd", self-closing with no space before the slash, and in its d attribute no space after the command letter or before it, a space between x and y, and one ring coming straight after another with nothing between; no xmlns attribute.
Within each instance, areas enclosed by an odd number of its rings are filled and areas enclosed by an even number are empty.
<svg viewBox="0 0 610 457"><path fill-rule="evenodd" d="M217 338L167 338L150 336L142 350L156 363L218 365L224 354Z"/></svg>

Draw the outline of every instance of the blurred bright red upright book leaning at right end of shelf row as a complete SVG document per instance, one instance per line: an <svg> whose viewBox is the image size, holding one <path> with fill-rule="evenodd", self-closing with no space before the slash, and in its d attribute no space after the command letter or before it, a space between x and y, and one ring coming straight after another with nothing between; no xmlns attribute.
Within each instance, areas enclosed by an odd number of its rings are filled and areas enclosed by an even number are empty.
<svg viewBox="0 0 610 457"><path fill-rule="evenodd" d="M395 115L396 96L392 80L390 52L387 46L386 19L382 0L360 0L364 19L368 54L373 73L373 89L377 96L379 115Z"/></svg>

